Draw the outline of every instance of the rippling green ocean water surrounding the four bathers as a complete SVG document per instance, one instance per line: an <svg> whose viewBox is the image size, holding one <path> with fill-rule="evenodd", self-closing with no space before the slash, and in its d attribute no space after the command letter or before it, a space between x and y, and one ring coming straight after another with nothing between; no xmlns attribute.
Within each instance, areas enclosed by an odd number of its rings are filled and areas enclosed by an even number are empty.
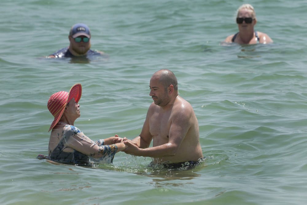
<svg viewBox="0 0 307 205"><path fill-rule="evenodd" d="M272 45L220 45L235 11L256 10ZM0 204L306 204L307 1L45 1L0 3ZM108 57L45 59L86 23ZM52 93L83 86L75 125L92 140L138 136L149 80L172 70L200 127L197 168L147 167L117 153L78 167L47 154Z"/></svg>

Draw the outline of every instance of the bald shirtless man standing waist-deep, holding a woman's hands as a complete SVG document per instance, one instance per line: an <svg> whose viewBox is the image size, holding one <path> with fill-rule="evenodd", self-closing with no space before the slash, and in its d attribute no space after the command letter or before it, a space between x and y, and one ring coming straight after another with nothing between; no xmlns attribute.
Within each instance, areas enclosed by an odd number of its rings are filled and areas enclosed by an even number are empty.
<svg viewBox="0 0 307 205"><path fill-rule="evenodd" d="M150 79L150 105L142 132L125 141L124 152L152 157L152 164L165 168L194 167L203 158L199 142L198 120L190 103L178 95L177 78L168 69ZM150 147L153 140L153 147Z"/></svg>

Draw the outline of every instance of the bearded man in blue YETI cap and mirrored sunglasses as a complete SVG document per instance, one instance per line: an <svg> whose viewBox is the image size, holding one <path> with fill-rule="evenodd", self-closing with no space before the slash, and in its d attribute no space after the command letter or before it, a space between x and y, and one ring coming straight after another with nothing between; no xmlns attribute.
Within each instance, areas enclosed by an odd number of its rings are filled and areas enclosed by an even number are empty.
<svg viewBox="0 0 307 205"><path fill-rule="evenodd" d="M77 23L70 29L69 46L60 49L49 55L49 58L62 58L62 57L87 57L92 55L102 55L101 51L91 50L91 32L87 25Z"/></svg>

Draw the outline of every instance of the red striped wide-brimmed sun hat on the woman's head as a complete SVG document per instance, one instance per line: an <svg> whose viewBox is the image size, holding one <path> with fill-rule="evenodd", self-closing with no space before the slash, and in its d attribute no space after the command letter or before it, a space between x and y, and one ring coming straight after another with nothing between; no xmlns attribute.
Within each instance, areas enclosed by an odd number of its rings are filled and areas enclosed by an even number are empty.
<svg viewBox="0 0 307 205"><path fill-rule="evenodd" d="M49 97L47 108L49 109L50 113L54 116L54 120L51 123L49 131L52 130L52 128L56 125L56 123L59 122L68 102L72 98L75 98L76 103L78 103L81 98L81 94L82 94L82 86L80 83L77 83L71 87L69 93L65 91L60 91L52 94L52 96Z"/></svg>

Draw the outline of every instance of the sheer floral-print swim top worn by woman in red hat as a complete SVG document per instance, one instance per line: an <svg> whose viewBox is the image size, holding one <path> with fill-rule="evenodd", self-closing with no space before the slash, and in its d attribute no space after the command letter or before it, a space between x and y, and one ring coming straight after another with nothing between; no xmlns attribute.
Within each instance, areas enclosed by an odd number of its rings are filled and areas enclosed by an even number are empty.
<svg viewBox="0 0 307 205"><path fill-rule="evenodd" d="M92 141L73 125L65 125L62 129L53 129L59 143L51 150L49 144L48 159L67 164L112 163L117 146L104 145L104 140ZM54 134L54 133L52 133ZM52 142L50 142L52 144Z"/></svg>

